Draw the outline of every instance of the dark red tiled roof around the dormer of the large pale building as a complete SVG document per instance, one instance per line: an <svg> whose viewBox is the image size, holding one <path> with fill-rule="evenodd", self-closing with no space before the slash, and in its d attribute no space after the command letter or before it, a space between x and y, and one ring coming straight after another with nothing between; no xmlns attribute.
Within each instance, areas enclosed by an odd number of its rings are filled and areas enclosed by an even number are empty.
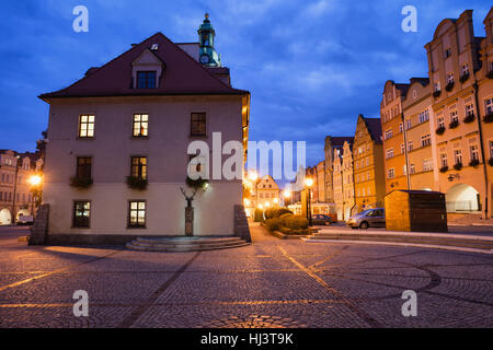
<svg viewBox="0 0 493 350"><path fill-rule="evenodd" d="M131 62L152 44L159 44L154 54L165 63L159 86L131 88ZM39 95L46 101L58 97L133 96L133 95L244 95L248 91L229 86L211 71L194 60L162 33L157 33L106 65L93 69L68 88Z"/></svg>

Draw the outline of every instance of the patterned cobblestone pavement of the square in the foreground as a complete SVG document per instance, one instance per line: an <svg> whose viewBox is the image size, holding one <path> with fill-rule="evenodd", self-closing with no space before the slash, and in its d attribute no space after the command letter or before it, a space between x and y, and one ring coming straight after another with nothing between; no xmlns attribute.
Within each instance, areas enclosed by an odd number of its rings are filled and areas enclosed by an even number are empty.
<svg viewBox="0 0 493 350"><path fill-rule="evenodd" d="M0 228L0 327L492 327L493 257L254 242L202 253L30 247ZM76 290L89 317L73 316ZM404 317L404 290L417 316Z"/></svg>

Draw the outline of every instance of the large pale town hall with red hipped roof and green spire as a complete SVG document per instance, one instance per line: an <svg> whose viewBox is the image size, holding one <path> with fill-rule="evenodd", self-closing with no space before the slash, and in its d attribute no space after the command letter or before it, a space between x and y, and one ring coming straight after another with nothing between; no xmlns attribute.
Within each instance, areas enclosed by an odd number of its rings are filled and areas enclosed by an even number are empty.
<svg viewBox="0 0 493 350"><path fill-rule="evenodd" d="M228 156L209 153L227 141L245 145L250 93L230 85L229 69L211 49L214 35L207 18L198 44L177 45L157 33L39 96L49 104L44 203L51 241L184 235L182 189L195 194L194 235L233 235L244 165L237 164L239 178L217 176ZM191 150L193 141L210 152ZM238 151L244 161L246 148ZM208 168L200 175L210 177L206 190L187 186L196 155L196 170Z"/></svg>

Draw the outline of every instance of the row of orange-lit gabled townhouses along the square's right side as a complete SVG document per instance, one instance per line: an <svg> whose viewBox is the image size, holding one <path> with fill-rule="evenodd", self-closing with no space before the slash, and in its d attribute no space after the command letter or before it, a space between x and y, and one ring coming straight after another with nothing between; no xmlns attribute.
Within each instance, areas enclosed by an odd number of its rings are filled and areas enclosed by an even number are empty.
<svg viewBox="0 0 493 350"><path fill-rule="evenodd" d="M449 213L492 217L493 8L483 23L478 37L472 10L442 21L425 45L428 77L387 81L380 118L359 116L354 138L325 139L324 161L307 168L313 201L344 220L393 189L436 190Z"/></svg>

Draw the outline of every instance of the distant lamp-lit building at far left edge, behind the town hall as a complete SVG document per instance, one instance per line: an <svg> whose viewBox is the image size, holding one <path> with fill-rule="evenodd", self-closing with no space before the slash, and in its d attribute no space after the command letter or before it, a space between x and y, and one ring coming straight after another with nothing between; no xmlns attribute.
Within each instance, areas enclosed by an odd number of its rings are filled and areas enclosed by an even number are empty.
<svg viewBox="0 0 493 350"><path fill-rule="evenodd" d="M32 215L35 209L30 177L42 172L43 161L35 153L0 150L0 225Z"/></svg>

